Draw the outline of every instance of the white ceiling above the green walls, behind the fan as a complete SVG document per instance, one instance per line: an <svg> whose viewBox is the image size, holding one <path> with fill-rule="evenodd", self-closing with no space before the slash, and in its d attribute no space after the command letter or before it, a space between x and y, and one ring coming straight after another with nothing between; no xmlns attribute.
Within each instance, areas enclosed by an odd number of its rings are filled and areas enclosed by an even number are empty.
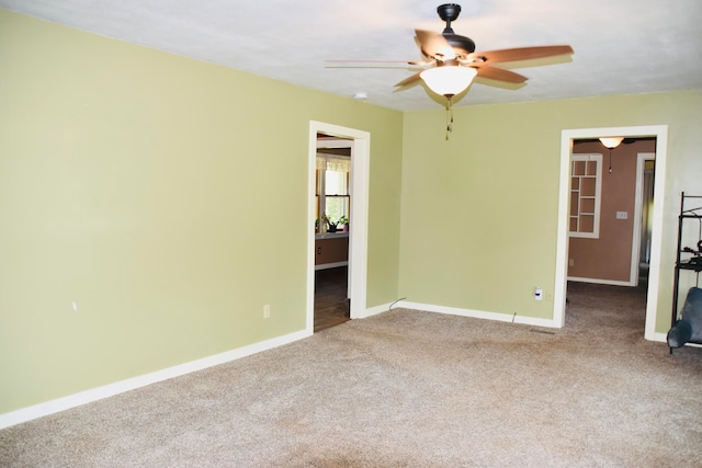
<svg viewBox="0 0 702 468"><path fill-rule="evenodd" d="M0 0L0 8L160 50L410 111L437 107L399 66L330 68L326 59L417 60L414 30L441 32L441 0ZM457 105L702 88L700 0L464 0L452 26L476 50L568 44L571 61L520 68L526 85L480 81Z"/></svg>

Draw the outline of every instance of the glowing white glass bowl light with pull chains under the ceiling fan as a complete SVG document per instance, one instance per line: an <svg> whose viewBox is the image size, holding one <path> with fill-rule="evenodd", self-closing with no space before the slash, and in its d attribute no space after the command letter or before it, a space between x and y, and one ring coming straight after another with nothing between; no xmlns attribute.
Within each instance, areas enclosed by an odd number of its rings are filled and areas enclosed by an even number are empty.
<svg viewBox="0 0 702 468"><path fill-rule="evenodd" d="M455 59L444 60L419 73L430 90L446 98L446 139L453 130L453 96L468 89L476 75L477 69L462 67Z"/></svg>

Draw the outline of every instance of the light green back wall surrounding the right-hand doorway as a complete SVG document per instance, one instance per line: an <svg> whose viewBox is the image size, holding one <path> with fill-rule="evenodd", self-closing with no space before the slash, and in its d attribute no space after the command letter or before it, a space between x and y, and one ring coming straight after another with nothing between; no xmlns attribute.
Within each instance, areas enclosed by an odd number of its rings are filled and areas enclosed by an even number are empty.
<svg viewBox="0 0 702 468"><path fill-rule="evenodd" d="M441 109L405 115L400 296L551 319L562 130L668 125L656 327L667 332L679 195L702 194L702 91L463 106L449 141L444 122Z"/></svg>

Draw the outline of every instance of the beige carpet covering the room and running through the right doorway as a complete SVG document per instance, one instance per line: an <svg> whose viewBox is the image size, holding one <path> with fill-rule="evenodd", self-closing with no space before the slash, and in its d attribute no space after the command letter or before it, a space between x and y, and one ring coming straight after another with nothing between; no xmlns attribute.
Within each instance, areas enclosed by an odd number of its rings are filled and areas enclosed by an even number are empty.
<svg viewBox="0 0 702 468"><path fill-rule="evenodd" d="M2 467L699 467L702 350L644 293L562 330L397 309L0 431Z"/></svg>

